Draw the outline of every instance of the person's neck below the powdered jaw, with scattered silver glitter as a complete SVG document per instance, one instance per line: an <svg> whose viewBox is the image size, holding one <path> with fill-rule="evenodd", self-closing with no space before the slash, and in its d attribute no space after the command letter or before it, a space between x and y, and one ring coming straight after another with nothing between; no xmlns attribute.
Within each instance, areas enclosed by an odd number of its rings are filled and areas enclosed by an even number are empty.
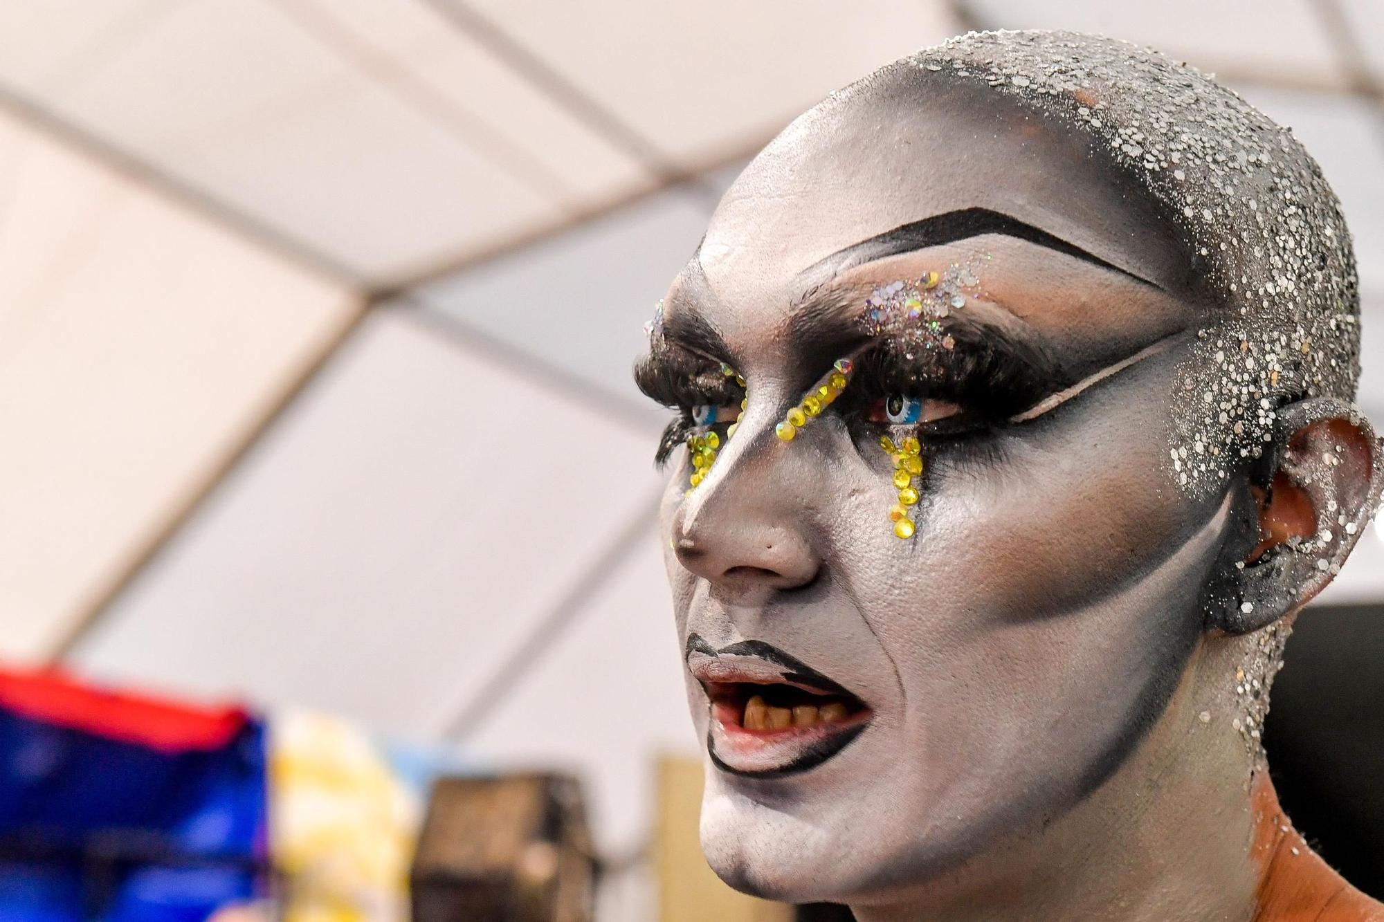
<svg viewBox="0 0 1384 922"><path fill-rule="evenodd" d="M1205 641L1125 764L1041 832L1013 836L897 901L853 905L855 918L1255 919L1266 872L1257 829L1268 818L1257 818L1264 802L1254 803L1251 778L1264 775L1262 760L1232 727L1235 671L1248 640ZM1268 779L1261 784L1272 799Z"/></svg>

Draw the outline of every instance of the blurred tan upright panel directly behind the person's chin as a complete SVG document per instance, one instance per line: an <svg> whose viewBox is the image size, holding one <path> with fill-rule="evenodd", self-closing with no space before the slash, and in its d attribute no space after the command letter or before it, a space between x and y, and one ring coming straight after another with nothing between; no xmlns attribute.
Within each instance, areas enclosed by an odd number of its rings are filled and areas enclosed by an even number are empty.
<svg viewBox="0 0 1384 922"><path fill-rule="evenodd" d="M655 867L660 922L790 922L793 907L732 890L702 854L702 761L659 760L659 815Z"/></svg>

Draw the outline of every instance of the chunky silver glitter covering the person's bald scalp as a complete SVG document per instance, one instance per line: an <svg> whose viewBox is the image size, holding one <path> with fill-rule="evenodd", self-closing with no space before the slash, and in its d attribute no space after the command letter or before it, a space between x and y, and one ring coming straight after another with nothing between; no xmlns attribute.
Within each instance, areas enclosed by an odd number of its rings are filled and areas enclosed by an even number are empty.
<svg viewBox="0 0 1384 922"><path fill-rule="evenodd" d="M1168 464L1185 490L1210 494L1262 454L1282 404L1354 399L1351 237L1290 130L1192 66L1099 36L970 33L909 61L1091 136L1183 231L1219 305L1172 382Z"/></svg>

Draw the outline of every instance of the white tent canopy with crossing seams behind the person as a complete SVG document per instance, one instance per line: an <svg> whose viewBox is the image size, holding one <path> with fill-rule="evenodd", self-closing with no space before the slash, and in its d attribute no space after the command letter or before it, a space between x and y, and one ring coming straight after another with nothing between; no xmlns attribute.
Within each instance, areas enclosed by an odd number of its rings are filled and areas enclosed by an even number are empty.
<svg viewBox="0 0 1384 922"><path fill-rule="evenodd" d="M695 741L628 368L745 158L966 25L1163 46L1320 158L1384 418L1384 57L1333 11L1384 33L1372 0L0 4L0 655L572 764L632 842ZM1384 597L1358 557L1333 593Z"/></svg>

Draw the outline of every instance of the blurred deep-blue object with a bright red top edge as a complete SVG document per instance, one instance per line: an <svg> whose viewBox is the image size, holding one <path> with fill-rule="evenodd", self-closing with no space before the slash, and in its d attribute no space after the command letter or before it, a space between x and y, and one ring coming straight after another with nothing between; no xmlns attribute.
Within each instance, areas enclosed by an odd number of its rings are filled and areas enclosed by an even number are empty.
<svg viewBox="0 0 1384 922"><path fill-rule="evenodd" d="M264 728L0 671L0 922L201 922L266 896Z"/></svg>

